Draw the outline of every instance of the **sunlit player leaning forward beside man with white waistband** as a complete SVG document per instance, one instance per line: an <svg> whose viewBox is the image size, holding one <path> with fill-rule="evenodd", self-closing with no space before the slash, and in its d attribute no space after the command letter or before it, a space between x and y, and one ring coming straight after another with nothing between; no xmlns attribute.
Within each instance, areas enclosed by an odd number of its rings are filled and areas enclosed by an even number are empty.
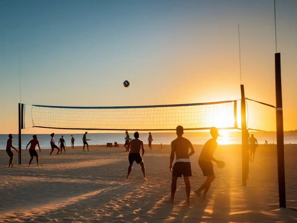
<svg viewBox="0 0 297 223"><path fill-rule="evenodd" d="M214 150L217 148L217 138L219 136L216 127L211 127L210 129L211 139L209 139L203 146L200 153L198 164L203 172L203 176L206 177L205 182L195 190L195 194L200 197L201 192L203 192L203 199L206 199L206 194L210 188L211 182L216 178L214 175L214 166L211 161L214 161L218 166L225 164L223 161L218 161L213 157Z"/></svg>

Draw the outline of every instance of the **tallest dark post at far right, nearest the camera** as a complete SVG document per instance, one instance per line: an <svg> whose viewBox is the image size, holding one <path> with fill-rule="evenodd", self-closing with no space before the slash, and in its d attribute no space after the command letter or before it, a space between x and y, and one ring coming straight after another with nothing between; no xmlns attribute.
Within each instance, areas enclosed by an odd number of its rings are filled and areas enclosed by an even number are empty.
<svg viewBox="0 0 297 223"><path fill-rule="evenodd" d="M275 59L275 94L277 117L277 172L279 186L279 207L286 208L285 188L285 154L284 154L284 125L282 113L282 75L280 66L280 53L274 54Z"/></svg>

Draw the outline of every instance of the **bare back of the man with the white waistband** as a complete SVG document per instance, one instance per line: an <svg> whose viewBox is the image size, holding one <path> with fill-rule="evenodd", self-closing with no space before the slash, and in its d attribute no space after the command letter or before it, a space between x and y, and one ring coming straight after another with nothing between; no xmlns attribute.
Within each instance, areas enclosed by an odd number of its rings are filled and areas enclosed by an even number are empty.
<svg viewBox="0 0 297 223"><path fill-rule="evenodd" d="M176 159L189 159L189 148L191 145L191 142L182 136L174 139L171 142L171 148L175 151Z"/></svg>

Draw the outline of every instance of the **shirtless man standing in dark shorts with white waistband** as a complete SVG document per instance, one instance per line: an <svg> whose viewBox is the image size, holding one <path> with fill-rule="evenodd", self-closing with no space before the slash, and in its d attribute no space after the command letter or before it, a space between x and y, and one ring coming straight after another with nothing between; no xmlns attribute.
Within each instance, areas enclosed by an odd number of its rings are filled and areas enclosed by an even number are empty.
<svg viewBox="0 0 297 223"><path fill-rule="evenodd" d="M176 191L176 182L179 177L184 176L184 182L186 185L187 193L187 204L190 204L190 179L192 176L190 156L192 156L195 151L192 143L183 137L184 128L181 125L176 127L177 138L171 142L171 154L170 154L170 166L169 169L172 172L172 182L171 182L171 197L166 203L173 203L174 195ZM189 149L191 152L189 153ZM172 163L174 160L174 155L176 155L176 161L172 168Z"/></svg>

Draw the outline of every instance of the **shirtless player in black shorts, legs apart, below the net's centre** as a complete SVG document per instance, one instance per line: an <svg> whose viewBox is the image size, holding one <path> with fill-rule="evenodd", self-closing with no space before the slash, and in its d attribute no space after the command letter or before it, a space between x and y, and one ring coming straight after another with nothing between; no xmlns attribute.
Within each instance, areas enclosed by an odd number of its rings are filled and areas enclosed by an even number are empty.
<svg viewBox="0 0 297 223"><path fill-rule="evenodd" d="M140 164L141 166L141 171L143 173L143 177L146 180L146 168L144 167L144 163L143 163L143 154L144 154L144 147L143 147L143 142L141 140L139 140L139 133L135 132L134 133L134 138L132 139L129 143L128 143L128 151L129 151L129 147L131 146L130 149L130 153L128 156L129 159L129 167L128 167L128 175L127 175L127 179L129 178L129 175L131 173L132 167L133 167L133 163L134 161L136 161L137 164ZM140 156L140 147L142 149L142 155Z"/></svg>

